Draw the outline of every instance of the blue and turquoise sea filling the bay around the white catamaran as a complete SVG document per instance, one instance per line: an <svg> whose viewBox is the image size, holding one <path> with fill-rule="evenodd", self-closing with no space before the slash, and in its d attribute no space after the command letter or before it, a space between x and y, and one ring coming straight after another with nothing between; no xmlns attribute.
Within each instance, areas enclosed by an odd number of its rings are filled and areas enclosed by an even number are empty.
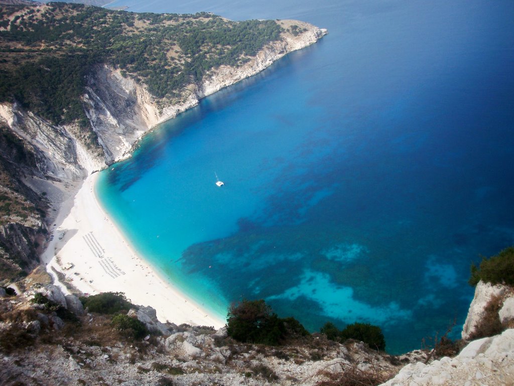
<svg viewBox="0 0 514 386"><path fill-rule="evenodd" d="M391 353L460 335L470 263L514 245L514 2L120 5L329 30L101 173L163 276L222 317L262 298L311 331L377 324Z"/></svg>

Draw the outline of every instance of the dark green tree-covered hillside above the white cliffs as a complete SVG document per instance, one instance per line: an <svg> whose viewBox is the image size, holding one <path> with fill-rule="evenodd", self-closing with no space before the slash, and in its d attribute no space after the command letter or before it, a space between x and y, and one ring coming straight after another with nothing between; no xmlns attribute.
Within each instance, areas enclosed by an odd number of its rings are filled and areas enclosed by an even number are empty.
<svg viewBox="0 0 514 386"><path fill-rule="evenodd" d="M131 13L81 4L0 8L0 102L54 123L79 120L85 76L106 63L173 99L219 65L237 66L280 39L275 21L231 22L210 13Z"/></svg>

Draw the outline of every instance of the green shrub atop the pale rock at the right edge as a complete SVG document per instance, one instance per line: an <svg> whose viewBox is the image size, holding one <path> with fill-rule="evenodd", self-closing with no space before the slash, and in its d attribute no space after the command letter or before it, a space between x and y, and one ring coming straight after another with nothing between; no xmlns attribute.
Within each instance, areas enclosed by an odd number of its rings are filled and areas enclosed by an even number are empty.
<svg viewBox="0 0 514 386"><path fill-rule="evenodd" d="M483 258L480 267L471 264L469 284L475 286L480 280L514 286L514 247L506 248L489 259Z"/></svg>

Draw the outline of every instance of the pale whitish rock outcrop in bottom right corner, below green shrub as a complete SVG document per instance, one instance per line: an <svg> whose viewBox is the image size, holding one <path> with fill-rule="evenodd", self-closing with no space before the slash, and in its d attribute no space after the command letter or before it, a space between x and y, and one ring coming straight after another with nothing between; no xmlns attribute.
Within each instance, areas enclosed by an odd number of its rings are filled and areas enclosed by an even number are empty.
<svg viewBox="0 0 514 386"><path fill-rule="evenodd" d="M383 386L503 386L514 379L514 288L480 281L454 358L409 364Z"/></svg>

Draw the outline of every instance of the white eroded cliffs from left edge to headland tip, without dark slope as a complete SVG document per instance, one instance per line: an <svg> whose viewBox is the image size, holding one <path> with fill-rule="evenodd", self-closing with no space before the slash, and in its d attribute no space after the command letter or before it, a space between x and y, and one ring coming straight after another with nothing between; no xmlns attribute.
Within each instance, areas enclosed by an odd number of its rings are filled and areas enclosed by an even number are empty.
<svg viewBox="0 0 514 386"><path fill-rule="evenodd" d="M176 103L157 100L144 85L123 77L118 69L97 66L86 79L82 97L94 133L78 124L51 124L16 103L0 104L0 120L36 155L36 168L26 174L24 182L34 192L45 195L53 212L58 211L61 203L77 193L88 174L129 157L137 141L155 125L195 106L199 99L255 75L288 52L315 43L327 33L307 23L281 22L284 28L292 23L302 31L297 36L284 32L281 41L264 47L245 65L212 70L203 83L186 87Z"/></svg>

